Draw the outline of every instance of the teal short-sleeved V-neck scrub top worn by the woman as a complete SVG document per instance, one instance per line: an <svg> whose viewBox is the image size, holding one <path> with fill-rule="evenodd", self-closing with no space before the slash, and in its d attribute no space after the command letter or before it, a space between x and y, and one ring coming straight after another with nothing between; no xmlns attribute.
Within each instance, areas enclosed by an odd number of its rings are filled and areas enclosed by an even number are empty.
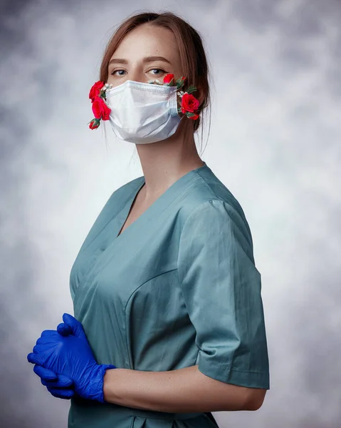
<svg viewBox="0 0 341 428"><path fill-rule="evenodd" d="M97 362L153 372L199 365L220 382L270 389L261 274L241 205L204 163L118 235L144 183L112 193L70 271L74 315ZM205 413L73 397L71 427L216 425Z"/></svg>

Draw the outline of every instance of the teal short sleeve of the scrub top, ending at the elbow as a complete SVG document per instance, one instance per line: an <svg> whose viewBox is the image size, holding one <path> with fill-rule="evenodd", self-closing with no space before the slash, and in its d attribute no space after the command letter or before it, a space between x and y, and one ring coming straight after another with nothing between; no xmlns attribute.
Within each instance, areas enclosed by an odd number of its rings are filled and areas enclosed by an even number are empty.
<svg viewBox="0 0 341 428"><path fill-rule="evenodd" d="M270 389L261 274L243 210L224 200L201 203L182 228L177 267L200 372Z"/></svg>

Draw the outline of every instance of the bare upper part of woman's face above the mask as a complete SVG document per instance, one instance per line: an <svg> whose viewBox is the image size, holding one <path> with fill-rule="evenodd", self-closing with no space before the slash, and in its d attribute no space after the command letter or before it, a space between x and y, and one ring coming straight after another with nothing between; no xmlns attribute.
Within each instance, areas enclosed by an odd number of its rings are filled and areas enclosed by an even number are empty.
<svg viewBox="0 0 341 428"><path fill-rule="evenodd" d="M118 86L127 80L162 82L167 73L182 76L174 34L168 29L142 24L130 31L110 58L107 83Z"/></svg>

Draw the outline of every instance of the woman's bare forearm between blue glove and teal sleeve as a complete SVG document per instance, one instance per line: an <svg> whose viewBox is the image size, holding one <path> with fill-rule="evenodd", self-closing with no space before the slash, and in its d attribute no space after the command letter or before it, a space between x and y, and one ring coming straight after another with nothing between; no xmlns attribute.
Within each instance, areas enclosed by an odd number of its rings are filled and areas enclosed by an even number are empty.
<svg viewBox="0 0 341 428"><path fill-rule="evenodd" d="M199 371L198 365L168 372L107 370L104 400L155 412L192 413L257 410L266 389L220 382Z"/></svg>

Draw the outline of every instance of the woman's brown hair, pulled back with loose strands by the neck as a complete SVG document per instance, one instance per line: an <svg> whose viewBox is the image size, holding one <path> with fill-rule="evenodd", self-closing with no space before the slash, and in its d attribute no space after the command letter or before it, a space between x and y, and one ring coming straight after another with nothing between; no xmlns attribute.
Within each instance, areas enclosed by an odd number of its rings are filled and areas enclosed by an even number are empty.
<svg viewBox="0 0 341 428"><path fill-rule="evenodd" d="M118 29L108 41L103 55L102 63L100 65L100 81L107 81L108 78L108 64L112 54L119 46L122 39L132 29L135 29L141 24L150 23L155 26L162 26L173 32L175 41L179 48L180 61L182 63L183 76L186 76L186 84L184 91L186 91L187 84L194 84L199 88L201 93L204 93L204 99L199 107L199 111L206 110L211 107L211 98L209 91L209 67L206 59L206 54L201 41L201 36L187 21L173 14L172 12L164 12L162 14L155 14L152 12L143 12L129 16L125 21L120 24ZM195 93L194 93L195 96ZM198 129L200 121L202 121L202 113L196 121L194 121L194 132ZM210 115L211 116L211 115ZM211 117L209 121L211 122ZM202 139L202 126L201 126L201 139Z"/></svg>

